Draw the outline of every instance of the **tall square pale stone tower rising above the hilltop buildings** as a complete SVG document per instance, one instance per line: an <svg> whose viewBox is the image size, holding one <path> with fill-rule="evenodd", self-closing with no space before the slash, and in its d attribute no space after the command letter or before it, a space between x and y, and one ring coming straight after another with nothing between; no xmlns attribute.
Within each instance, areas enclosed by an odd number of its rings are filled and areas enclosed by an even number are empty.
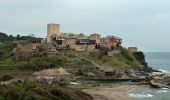
<svg viewBox="0 0 170 100"><path fill-rule="evenodd" d="M60 24L47 25L47 43L51 43L54 37L60 36Z"/></svg>

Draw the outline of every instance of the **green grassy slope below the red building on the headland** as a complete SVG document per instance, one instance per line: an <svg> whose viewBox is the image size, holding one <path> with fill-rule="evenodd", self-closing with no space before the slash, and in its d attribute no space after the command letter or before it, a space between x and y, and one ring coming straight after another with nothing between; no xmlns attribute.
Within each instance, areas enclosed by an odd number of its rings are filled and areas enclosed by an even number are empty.
<svg viewBox="0 0 170 100"><path fill-rule="evenodd" d="M120 54L116 54L111 57L108 57L107 55L102 54L101 52L93 52L85 58L109 67L122 68L126 66L131 66L133 68L138 68L141 66L141 63L135 58L135 56L133 56L133 54L128 52L128 50L125 48L121 48Z"/></svg>

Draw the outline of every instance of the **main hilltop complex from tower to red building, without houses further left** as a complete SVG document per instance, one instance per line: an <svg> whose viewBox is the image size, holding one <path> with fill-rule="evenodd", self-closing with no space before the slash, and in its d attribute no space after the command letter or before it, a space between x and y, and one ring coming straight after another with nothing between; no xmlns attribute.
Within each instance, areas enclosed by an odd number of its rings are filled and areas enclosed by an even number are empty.
<svg viewBox="0 0 170 100"><path fill-rule="evenodd" d="M60 24L47 25L46 43L57 43L58 47L69 47L76 51L94 51L96 47L116 49L122 43L122 39L115 36L101 37L98 33L86 36L83 33L60 33Z"/></svg>

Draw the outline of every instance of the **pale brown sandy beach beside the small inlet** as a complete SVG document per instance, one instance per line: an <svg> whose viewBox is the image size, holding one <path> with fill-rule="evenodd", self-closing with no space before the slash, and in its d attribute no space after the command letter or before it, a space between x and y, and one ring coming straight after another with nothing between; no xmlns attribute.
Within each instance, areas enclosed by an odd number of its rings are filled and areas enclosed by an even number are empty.
<svg viewBox="0 0 170 100"><path fill-rule="evenodd" d="M118 85L94 87L91 89L84 89L83 91L92 95L95 100L131 100L131 98L126 96L126 92L136 87L136 85Z"/></svg>

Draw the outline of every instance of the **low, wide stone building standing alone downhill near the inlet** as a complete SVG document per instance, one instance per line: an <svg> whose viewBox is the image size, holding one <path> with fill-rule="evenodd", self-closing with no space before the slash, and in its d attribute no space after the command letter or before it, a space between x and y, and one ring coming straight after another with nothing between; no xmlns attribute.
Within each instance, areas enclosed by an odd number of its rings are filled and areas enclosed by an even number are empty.
<svg viewBox="0 0 170 100"><path fill-rule="evenodd" d="M70 82L70 73L66 72L64 68L54 68L42 70L39 72L33 73L33 77L35 77L38 81L45 80L51 83L51 81L67 81Z"/></svg>

